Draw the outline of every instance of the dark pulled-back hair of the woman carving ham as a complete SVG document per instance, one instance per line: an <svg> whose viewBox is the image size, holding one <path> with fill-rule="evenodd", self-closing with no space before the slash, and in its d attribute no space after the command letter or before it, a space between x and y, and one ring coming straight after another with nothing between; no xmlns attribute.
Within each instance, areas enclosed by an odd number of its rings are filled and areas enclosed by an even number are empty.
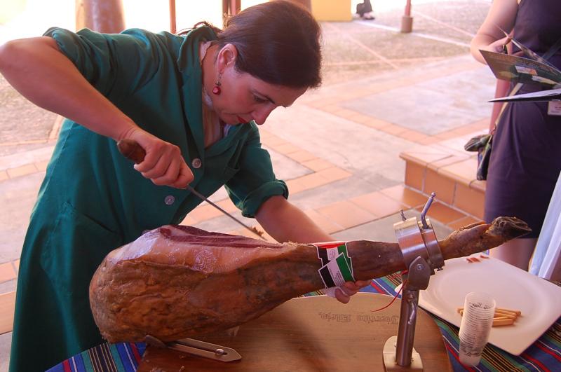
<svg viewBox="0 0 561 372"><path fill-rule="evenodd" d="M274 85L317 88L321 84L320 26L290 1L270 1L229 18L215 43L238 49L236 70Z"/></svg>

